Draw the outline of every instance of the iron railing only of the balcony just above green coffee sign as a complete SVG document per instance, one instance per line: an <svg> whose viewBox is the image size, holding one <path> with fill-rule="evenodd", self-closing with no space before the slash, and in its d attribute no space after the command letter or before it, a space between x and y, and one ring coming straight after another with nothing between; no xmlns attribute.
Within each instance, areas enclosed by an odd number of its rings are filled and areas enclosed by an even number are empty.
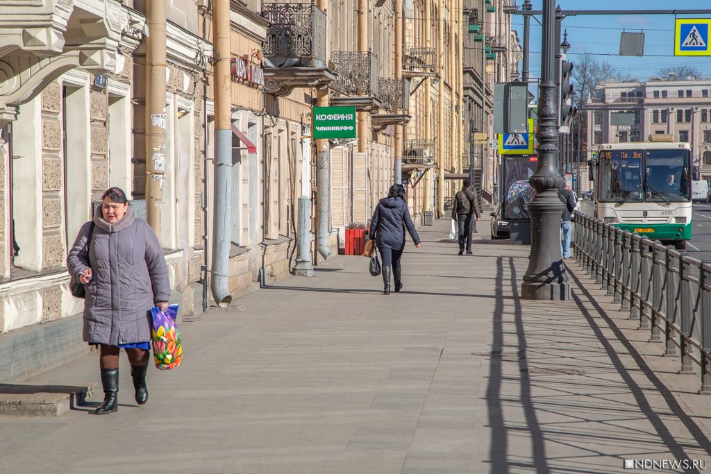
<svg viewBox="0 0 711 474"><path fill-rule="evenodd" d="M344 95L378 95L378 56L358 51L331 53L338 79L331 83Z"/></svg>

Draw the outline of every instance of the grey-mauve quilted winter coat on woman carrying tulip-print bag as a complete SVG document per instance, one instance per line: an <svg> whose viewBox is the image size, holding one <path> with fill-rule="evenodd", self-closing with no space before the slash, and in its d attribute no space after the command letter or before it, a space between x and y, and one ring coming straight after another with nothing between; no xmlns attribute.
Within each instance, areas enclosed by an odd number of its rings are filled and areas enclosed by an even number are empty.
<svg viewBox="0 0 711 474"><path fill-rule="evenodd" d="M136 219L129 206L122 220L109 224L101 208L94 214L94 234L86 252L91 222L82 225L69 251L74 278L90 267L85 285L84 340L119 345L151 340L150 310L171 296L168 266L155 233Z"/></svg>

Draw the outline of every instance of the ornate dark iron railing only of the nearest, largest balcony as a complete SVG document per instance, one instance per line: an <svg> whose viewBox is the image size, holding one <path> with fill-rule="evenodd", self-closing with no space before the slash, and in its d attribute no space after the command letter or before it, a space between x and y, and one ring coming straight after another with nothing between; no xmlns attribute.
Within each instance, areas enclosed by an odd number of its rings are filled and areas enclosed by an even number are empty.
<svg viewBox="0 0 711 474"><path fill-rule="evenodd" d="M268 67L326 67L326 12L314 4L265 3L262 53Z"/></svg>

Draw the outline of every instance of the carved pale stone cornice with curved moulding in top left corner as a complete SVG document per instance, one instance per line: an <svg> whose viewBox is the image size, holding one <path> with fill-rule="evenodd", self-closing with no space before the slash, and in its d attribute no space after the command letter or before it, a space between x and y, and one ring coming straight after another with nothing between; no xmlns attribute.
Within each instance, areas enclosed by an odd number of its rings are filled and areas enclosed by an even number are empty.
<svg viewBox="0 0 711 474"><path fill-rule="evenodd" d="M0 124L63 73L113 72L119 0L14 0L0 15Z"/></svg>

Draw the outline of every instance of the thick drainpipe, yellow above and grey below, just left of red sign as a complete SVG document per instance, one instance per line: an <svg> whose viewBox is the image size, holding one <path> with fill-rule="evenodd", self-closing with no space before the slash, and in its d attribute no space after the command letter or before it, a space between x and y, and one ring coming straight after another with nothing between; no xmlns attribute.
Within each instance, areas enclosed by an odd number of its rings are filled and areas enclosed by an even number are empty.
<svg viewBox="0 0 711 474"><path fill-rule="evenodd" d="M215 58L215 205L213 218L213 277L210 290L218 306L232 303L230 247L232 246L232 90L230 81L230 0L213 0Z"/></svg>

